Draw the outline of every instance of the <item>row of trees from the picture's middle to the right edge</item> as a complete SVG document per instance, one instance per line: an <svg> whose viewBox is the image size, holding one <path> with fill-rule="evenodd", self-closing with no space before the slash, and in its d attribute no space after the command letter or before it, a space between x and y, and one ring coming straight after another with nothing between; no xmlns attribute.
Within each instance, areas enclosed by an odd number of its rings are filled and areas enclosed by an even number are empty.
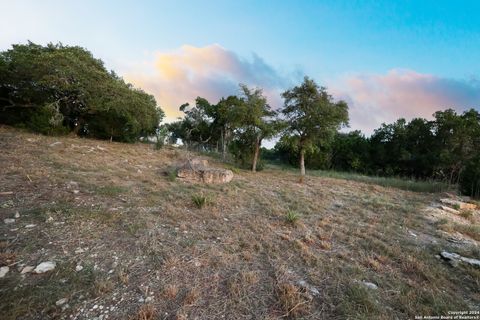
<svg viewBox="0 0 480 320"><path fill-rule="evenodd" d="M459 184L464 194L480 196L480 114L470 109L438 111L433 120L399 119L382 124L370 137L348 126L348 106L324 87L304 78L286 90L284 105L272 110L259 88L240 86L240 94L212 104L198 97L181 106L185 116L166 125L172 143L231 154L256 171L262 161L300 168L349 171L384 177ZM272 150L261 147L276 138Z"/></svg>

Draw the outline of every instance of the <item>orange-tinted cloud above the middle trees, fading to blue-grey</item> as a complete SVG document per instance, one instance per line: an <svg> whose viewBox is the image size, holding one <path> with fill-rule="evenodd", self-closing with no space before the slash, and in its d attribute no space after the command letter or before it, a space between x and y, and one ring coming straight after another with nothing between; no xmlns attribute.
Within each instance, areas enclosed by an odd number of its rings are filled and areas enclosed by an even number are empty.
<svg viewBox="0 0 480 320"><path fill-rule="evenodd" d="M141 69L128 72L125 79L152 93L167 120L181 116L178 107L197 96L215 103L223 96L237 94L239 83L263 88L269 103L279 107L280 93L290 85L288 77L256 54L244 59L217 44L184 45L174 52L158 52Z"/></svg>

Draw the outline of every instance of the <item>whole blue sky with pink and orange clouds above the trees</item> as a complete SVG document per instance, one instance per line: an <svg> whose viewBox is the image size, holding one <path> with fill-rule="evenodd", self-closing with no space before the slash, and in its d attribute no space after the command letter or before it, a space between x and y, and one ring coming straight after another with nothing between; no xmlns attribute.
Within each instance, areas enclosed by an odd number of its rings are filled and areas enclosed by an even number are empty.
<svg viewBox="0 0 480 320"><path fill-rule="evenodd" d="M480 1L0 0L0 50L79 45L156 97L167 121L238 84L269 104L304 76L347 101L350 130L480 110Z"/></svg>

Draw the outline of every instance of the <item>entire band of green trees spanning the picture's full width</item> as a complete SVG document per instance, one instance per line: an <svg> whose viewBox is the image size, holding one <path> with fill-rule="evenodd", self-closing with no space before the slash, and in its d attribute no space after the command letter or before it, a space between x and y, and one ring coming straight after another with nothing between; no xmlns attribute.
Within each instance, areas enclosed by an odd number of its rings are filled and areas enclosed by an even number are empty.
<svg viewBox="0 0 480 320"><path fill-rule="evenodd" d="M184 117L160 125L154 97L108 71L84 48L29 42L0 52L0 123L44 134L133 142L157 135L199 151L233 156L257 171L266 160L300 168L432 179L459 184L480 196L480 115L448 109L433 120L399 119L370 137L349 133L348 105L312 79L282 93L274 110L261 88L240 85L239 94L212 103L197 97L180 106ZM168 138L168 139L167 139ZM262 147L276 139L273 150Z"/></svg>

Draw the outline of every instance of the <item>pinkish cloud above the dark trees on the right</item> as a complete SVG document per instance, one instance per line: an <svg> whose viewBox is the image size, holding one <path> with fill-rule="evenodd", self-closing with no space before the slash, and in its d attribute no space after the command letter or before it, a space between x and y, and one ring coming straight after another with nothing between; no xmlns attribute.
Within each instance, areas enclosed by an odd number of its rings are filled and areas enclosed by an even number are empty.
<svg viewBox="0 0 480 320"><path fill-rule="evenodd" d="M430 119L438 110L480 107L480 82L393 69L386 74L350 75L331 87L350 107L350 127L366 134L398 118Z"/></svg>

